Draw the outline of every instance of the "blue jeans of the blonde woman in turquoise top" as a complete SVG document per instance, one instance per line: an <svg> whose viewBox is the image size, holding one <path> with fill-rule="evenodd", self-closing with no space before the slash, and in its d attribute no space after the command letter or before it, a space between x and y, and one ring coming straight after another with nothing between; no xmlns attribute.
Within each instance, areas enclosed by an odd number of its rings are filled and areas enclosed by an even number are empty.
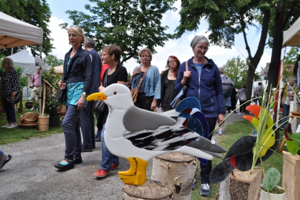
<svg viewBox="0 0 300 200"><path fill-rule="evenodd" d="M79 127L81 110L77 110L77 106L70 104L66 109L61 123L65 139L65 160L72 160L73 157L81 157L81 134Z"/></svg>

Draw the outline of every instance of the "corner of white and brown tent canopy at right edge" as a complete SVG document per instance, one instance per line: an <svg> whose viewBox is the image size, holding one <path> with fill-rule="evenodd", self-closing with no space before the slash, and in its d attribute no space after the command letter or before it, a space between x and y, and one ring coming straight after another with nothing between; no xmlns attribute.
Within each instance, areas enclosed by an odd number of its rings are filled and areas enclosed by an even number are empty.
<svg viewBox="0 0 300 200"><path fill-rule="evenodd" d="M282 46L300 46L300 17L283 32Z"/></svg>

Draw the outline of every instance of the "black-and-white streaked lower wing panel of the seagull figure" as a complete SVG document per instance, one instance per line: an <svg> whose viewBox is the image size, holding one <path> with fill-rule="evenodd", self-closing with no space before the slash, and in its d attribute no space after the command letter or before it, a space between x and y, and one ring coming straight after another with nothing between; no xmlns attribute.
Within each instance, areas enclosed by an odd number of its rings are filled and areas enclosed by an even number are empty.
<svg viewBox="0 0 300 200"><path fill-rule="evenodd" d="M179 123L172 126L163 125L154 130L126 131L123 136L134 146L147 150L174 150L201 137Z"/></svg>

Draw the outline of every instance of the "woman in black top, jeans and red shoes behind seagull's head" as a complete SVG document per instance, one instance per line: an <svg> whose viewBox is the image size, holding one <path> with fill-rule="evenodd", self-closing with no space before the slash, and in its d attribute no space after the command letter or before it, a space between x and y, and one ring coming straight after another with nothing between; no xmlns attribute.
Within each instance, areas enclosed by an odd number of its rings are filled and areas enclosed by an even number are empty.
<svg viewBox="0 0 300 200"><path fill-rule="evenodd" d="M99 91L102 91L105 87L113 83L126 85L127 75L128 75L127 70L125 67L117 63L121 54L122 54L122 50L117 45L108 45L103 47L103 55L101 56L101 59L103 63L108 64L110 68L106 69L104 72L103 79L99 87ZM99 116L99 122L103 121L100 119L100 117L105 117L106 119L107 113ZM104 130L105 130L105 123L103 124L102 131L101 131L101 143L102 143L101 166L93 174L94 176L97 177L104 177L108 175L110 170L118 168L118 164L119 164L118 156L115 156L111 152L109 152L109 150L105 145Z"/></svg>

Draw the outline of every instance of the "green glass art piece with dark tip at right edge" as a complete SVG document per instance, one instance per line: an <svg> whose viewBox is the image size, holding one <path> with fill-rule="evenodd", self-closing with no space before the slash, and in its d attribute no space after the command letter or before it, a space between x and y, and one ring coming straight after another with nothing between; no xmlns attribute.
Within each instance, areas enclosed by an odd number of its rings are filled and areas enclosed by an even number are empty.
<svg viewBox="0 0 300 200"><path fill-rule="evenodd" d="M297 154L298 150L300 150L300 132L292 132L291 124L288 123L285 127L285 143L287 150L292 154Z"/></svg>

